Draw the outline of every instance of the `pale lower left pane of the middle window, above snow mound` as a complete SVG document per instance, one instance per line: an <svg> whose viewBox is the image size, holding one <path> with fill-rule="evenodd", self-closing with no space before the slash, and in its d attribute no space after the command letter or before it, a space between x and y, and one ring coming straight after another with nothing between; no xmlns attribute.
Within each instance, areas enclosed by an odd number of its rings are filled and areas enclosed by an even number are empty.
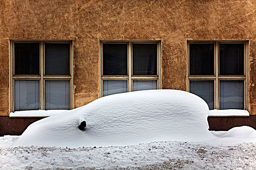
<svg viewBox="0 0 256 170"><path fill-rule="evenodd" d="M127 92L126 80L104 80L103 96Z"/></svg>

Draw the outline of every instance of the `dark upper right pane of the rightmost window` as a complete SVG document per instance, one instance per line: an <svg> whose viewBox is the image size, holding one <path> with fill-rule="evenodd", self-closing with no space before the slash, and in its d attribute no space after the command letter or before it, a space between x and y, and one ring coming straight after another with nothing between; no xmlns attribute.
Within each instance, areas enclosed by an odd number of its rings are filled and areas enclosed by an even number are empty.
<svg viewBox="0 0 256 170"><path fill-rule="evenodd" d="M219 75L244 74L244 44L219 44Z"/></svg>

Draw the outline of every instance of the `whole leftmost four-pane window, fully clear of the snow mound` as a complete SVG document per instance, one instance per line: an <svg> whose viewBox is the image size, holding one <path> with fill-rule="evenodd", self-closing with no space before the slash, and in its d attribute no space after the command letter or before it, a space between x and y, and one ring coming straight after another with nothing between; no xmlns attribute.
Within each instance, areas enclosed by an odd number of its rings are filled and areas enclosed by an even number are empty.
<svg viewBox="0 0 256 170"><path fill-rule="evenodd" d="M11 111L72 108L72 42L11 41Z"/></svg>

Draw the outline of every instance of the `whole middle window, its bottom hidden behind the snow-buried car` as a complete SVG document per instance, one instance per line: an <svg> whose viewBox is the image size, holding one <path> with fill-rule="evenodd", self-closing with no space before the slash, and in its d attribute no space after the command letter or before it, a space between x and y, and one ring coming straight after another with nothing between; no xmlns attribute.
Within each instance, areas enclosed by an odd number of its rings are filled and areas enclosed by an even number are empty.
<svg viewBox="0 0 256 170"><path fill-rule="evenodd" d="M160 88L159 41L101 41L100 97Z"/></svg>

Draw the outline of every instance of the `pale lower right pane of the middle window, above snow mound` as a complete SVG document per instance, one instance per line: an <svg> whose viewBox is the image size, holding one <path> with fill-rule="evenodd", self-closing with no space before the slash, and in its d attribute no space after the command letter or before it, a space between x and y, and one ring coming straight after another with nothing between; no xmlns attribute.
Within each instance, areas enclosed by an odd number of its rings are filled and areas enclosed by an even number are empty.
<svg viewBox="0 0 256 170"><path fill-rule="evenodd" d="M133 91L153 90L153 89L157 89L157 81L156 80L133 81Z"/></svg>

